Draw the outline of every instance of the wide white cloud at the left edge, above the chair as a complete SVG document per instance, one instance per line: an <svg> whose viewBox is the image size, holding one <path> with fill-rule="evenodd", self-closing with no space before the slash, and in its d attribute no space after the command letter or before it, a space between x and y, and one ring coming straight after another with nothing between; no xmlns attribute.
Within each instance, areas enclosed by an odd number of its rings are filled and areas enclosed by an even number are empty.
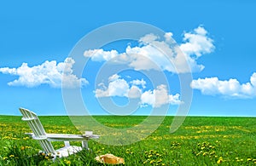
<svg viewBox="0 0 256 166"><path fill-rule="evenodd" d="M23 63L18 68L3 67L0 72L3 74L11 74L18 76L13 82L9 82L9 86L26 86L28 88L37 87L41 84L49 84L52 88L73 89L84 86L88 83L85 78L79 78L73 74L72 58L67 58L64 62L57 64L55 60L46 60L38 66L27 66Z"/></svg>

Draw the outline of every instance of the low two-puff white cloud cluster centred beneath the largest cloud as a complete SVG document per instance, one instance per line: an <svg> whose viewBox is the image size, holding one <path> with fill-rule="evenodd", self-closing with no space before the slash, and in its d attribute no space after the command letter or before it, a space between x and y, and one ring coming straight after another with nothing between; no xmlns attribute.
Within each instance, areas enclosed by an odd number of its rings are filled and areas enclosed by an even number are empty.
<svg viewBox="0 0 256 166"><path fill-rule="evenodd" d="M138 86L141 86L142 89ZM143 79L136 79L127 83L125 79L117 74L108 77L108 87L104 83L99 83L98 87L99 89L95 90L96 97L119 96L133 99L139 98L141 106L160 107L166 104L179 105L183 103L180 100L179 94L168 94L164 84L160 84L153 90L144 90L146 82Z"/></svg>

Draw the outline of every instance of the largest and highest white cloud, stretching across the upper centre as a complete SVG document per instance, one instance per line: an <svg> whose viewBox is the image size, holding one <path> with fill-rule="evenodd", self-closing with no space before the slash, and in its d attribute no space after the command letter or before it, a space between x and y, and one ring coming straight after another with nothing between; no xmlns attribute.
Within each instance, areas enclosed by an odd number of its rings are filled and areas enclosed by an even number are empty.
<svg viewBox="0 0 256 166"><path fill-rule="evenodd" d="M160 37L148 34L140 38L139 46L131 48L128 45L124 53L94 49L86 50L84 56L90 57L93 61L112 60L114 63L127 64L137 71L162 70L183 73L201 72L204 66L198 65L196 60L202 54L211 53L214 49L212 38L207 37L207 31L202 26L198 26L192 32L184 33L184 43L179 47L184 54L177 46L174 47L172 32L166 32L164 38L160 40Z"/></svg>

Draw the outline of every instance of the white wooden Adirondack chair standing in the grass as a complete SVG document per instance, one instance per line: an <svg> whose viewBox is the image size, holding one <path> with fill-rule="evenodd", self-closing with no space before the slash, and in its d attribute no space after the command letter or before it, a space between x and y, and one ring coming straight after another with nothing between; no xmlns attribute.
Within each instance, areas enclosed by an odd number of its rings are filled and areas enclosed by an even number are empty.
<svg viewBox="0 0 256 166"><path fill-rule="evenodd" d="M47 134L37 114L25 108L20 108L20 112L23 115L21 119L26 121L32 129L32 133L27 133L27 135L31 135L32 139L38 140L44 152L51 154L53 157L67 157L81 151L83 148L88 149L88 140L100 137L99 135L92 135L91 131L85 131L85 135ZM55 150L51 141L64 141L65 146ZM70 146L69 141L82 141L82 147Z"/></svg>

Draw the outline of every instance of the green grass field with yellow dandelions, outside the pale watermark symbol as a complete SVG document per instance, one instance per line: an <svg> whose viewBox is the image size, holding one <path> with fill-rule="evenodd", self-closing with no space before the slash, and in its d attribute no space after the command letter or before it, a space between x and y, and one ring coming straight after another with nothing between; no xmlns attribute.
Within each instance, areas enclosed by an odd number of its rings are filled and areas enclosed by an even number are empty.
<svg viewBox="0 0 256 166"><path fill-rule="evenodd" d="M103 165L94 158L112 153L125 165L256 165L255 117L187 117L174 134L173 117L166 117L148 138L129 146L106 146L90 140L90 151L57 158L53 162L26 132L21 117L0 116L0 165ZM79 134L68 117L39 117L48 133ZM95 117L104 125L126 128L145 117ZM102 136L101 139L104 139ZM79 142L73 142L80 145ZM55 148L64 146L53 142Z"/></svg>

